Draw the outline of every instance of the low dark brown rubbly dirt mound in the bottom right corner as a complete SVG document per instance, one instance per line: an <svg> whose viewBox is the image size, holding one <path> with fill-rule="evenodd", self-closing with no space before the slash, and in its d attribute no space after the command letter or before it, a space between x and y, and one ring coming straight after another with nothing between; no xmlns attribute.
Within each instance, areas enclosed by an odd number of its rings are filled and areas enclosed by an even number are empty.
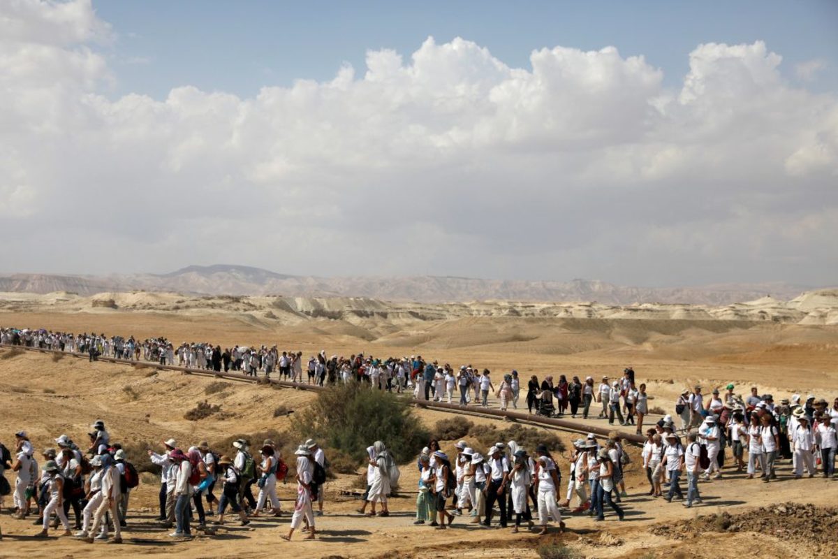
<svg viewBox="0 0 838 559"><path fill-rule="evenodd" d="M692 520L656 524L649 528L654 536L690 540L706 532L753 532L780 540L812 546L815 551L829 551L838 534L838 507L787 503L729 514L702 515Z"/></svg>

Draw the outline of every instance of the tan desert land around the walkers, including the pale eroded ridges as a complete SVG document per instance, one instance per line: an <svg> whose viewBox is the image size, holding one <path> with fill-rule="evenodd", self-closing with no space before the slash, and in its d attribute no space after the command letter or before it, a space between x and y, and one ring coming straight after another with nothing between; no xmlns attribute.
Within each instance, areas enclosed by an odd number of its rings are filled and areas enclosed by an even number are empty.
<svg viewBox="0 0 838 559"><path fill-rule="evenodd" d="M328 355L364 351L380 357L421 354L457 367L472 364L502 373L513 368L527 378L551 374L619 375L632 365L649 385L652 407L670 412L681 388L701 383L733 382L737 392L759 386L775 399L798 392L830 398L838 394L838 293L810 292L790 301L763 298L720 307L599 303L386 303L361 298L204 297L177 293L124 292L80 297L70 293L0 295L0 325L73 332L166 336L174 342L211 341L233 344L277 344L304 355L325 349ZM0 440L28 431L36 448L52 446L51 437L67 433L82 440L89 424L105 420L115 440L159 448L174 437L187 446L201 439L216 441L239 433L275 429L287 432L294 421L274 417L277 406L302 410L313 398L307 391L223 381L208 377L12 349L0 350L3 417ZM223 419L184 419L196 402L221 406ZM433 429L451 417L442 411L416 410ZM473 416L475 423L502 423ZM603 426L606 422L592 420ZM567 440L576 436L558 432ZM468 436L465 437L468 440ZM372 443L370 441L370 443ZM443 442L451 450L453 441ZM230 449L220 449L226 452ZM418 449L417 449L418 451ZM635 458L637 451L633 450ZM247 528L230 525L216 536L173 542L153 525L158 480L142 474L132 494L126 544L131 556L275 556L287 550L299 557L535 557L543 541L523 531L482 530L459 518L453 530L431 531L412 525L416 471L404 457L403 490L392 500L396 514L368 519L354 512L358 502L342 489L355 476L339 475L326 486L326 515L318 518L319 541L286 543L279 534L287 518L260 519ZM566 459L560 461L567 473ZM151 469L151 468L150 468ZM726 471L727 472L727 471ZM9 479L12 473L7 473ZM701 484L705 505L686 510L645 496L647 486L638 460L628 469L626 522L607 517L602 524L586 517L566 518L568 532L549 536L583 556L692 557L717 556L719 550L747 549L752 554L823 556L827 536L815 531L805 538L789 536L789 525L818 515L835 519L835 509L777 509L783 503L834 507L838 482L789 479L782 463L780 480L764 485L727 473L725 479ZM282 486L284 506L292 485ZM8 507L10 498L6 499ZM753 512L767 507L760 513ZM732 520L717 516L724 511ZM699 515L713 515L696 520ZM759 520L754 520L759 519ZM833 524L834 525L834 522ZM665 526L665 527L661 527ZM32 539L31 521L0 516L0 556L111 556L114 546L88 546L69 538ZM756 537L757 533L759 537ZM730 547L734 546L734 547Z"/></svg>

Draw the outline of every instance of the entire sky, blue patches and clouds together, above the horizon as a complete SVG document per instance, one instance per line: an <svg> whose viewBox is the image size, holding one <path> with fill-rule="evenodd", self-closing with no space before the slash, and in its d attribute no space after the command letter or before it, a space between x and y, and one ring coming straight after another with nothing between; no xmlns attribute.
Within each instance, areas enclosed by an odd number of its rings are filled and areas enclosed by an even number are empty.
<svg viewBox="0 0 838 559"><path fill-rule="evenodd" d="M0 272L838 283L838 3L0 0Z"/></svg>

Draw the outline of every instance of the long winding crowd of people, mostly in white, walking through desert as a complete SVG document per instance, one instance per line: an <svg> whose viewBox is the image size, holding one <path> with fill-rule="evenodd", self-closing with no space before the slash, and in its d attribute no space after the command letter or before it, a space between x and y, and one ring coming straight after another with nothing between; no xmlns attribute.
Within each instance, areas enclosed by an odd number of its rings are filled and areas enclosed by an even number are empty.
<svg viewBox="0 0 838 559"><path fill-rule="evenodd" d="M0 329L0 343L85 352L91 360L99 355L157 359L210 370L227 370L229 366L246 375L261 372L270 376L276 370L280 377L297 382L303 382L302 371L306 370L312 384L360 380L381 391L412 389L416 398L448 402L453 402L458 391L462 406L487 406L489 394L494 394L501 409L515 409L520 395L515 370L504 375L495 387L489 370L463 365L455 371L437 361L428 363L419 355L385 360L365 355L327 359L321 351L303 365L301 352L280 353L276 346L235 346L221 352L211 344L178 344L174 349L174 344L163 338L139 342L132 337L25 329ZM673 414L666 414L647 429L645 385L635 384L630 367L623 371L623 378L611 381L605 376L596 387L590 376L582 382L577 376L568 381L560 375L555 383L551 376L541 382L532 376L526 404L530 413L551 416L569 412L572 417L587 419L593 417L591 406L596 402L602 406L597 417L610 424L618 421L623 426L636 426L637 432L646 436L640 458L649 481L649 495L668 502L681 499L686 507L701 504L699 482L722 478L727 448L731 449L730 471L735 468L749 479L759 474L759 479L770 483L777 477L777 464L784 459L791 460L796 479L804 474L835 478L838 398L829 406L823 398L810 395L803 399L794 394L775 404L771 394L760 395L756 387L750 392L742 397L730 384L723 393L714 389L705 398L701 386L694 386L680 394ZM675 426L674 417L680 418L680 428ZM34 446L23 431L16 433L14 453L3 456L0 474L9 468L17 474L14 487L8 488L13 492L13 515L23 519L37 513L41 536L59 525L69 535L72 510L76 536L91 542L106 540L112 530L113 541L122 541L121 529L127 525L137 471L127 462L121 445L111 443L104 422L97 421L92 428L85 448L67 435L56 437L58 448L40 453L41 468ZM515 441L496 443L480 453L463 440L455 445L456 455L449 458L437 441L431 441L416 462L419 481L415 523L444 530L465 511L474 524L488 527L496 519L497 525L512 524L512 530L519 531L522 522L534 527L537 512L539 533L544 534L551 520L560 531L564 528L561 508L572 514L592 515L596 520L604 520L609 509L623 520L621 503L628 497L623 473L631 463L623 444L616 431L603 440L591 433L574 441L564 482L559 464L544 445L536 446L532 455ZM185 452L175 440L168 439L162 443L161 452L148 451L148 459L161 468L158 520L163 527L173 528L170 536L190 537L191 525L196 521L196 529L206 530L214 506L214 525L223 525L229 511L242 525L259 515L282 515L277 482L293 475L297 497L290 530L283 537L290 539L301 526L306 537L315 537L315 516L323 514L323 483L328 468L323 449L315 441L297 447L293 469L282 460L271 440L256 445L258 453L254 454L251 442L243 439L218 451L205 441L184 448ZM396 458L380 441L367 448L367 453L367 490L359 512L386 517L390 515L388 495L400 476ZM684 474L685 491L680 483ZM0 478L3 494L4 478ZM257 495L254 489L258 489Z"/></svg>

